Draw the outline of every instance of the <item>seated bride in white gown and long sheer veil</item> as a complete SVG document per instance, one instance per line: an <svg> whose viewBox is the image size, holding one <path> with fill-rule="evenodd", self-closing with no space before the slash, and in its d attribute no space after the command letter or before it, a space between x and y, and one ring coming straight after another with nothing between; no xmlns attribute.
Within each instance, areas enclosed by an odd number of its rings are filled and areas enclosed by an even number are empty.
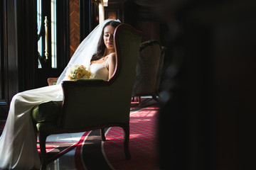
<svg viewBox="0 0 256 170"><path fill-rule="evenodd" d="M0 169L40 169L31 109L39 103L63 100L60 84L68 79L65 72L75 64L83 64L97 79L111 79L115 67L114 28L119 24L107 19L92 30L60 74L57 85L23 91L12 98L0 137Z"/></svg>

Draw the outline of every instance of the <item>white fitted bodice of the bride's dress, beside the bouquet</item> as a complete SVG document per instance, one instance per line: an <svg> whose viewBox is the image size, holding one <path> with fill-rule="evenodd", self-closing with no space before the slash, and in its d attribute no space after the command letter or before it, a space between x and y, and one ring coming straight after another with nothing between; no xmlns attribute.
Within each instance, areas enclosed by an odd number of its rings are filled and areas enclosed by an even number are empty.
<svg viewBox="0 0 256 170"><path fill-rule="evenodd" d="M95 79L102 79L107 81L109 77L109 72L107 67L102 64L94 63L90 65L90 72L95 75Z"/></svg>

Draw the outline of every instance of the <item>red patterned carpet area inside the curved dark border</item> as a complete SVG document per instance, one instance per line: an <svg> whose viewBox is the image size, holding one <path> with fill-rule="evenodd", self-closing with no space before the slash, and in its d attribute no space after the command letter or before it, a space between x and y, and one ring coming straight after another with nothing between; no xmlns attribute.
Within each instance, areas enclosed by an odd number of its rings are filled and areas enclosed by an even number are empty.
<svg viewBox="0 0 256 170"><path fill-rule="evenodd" d="M158 108L145 108L131 114L129 150L132 159L124 158L123 130L110 128L104 150L113 169L158 169L156 148L156 115Z"/></svg>

